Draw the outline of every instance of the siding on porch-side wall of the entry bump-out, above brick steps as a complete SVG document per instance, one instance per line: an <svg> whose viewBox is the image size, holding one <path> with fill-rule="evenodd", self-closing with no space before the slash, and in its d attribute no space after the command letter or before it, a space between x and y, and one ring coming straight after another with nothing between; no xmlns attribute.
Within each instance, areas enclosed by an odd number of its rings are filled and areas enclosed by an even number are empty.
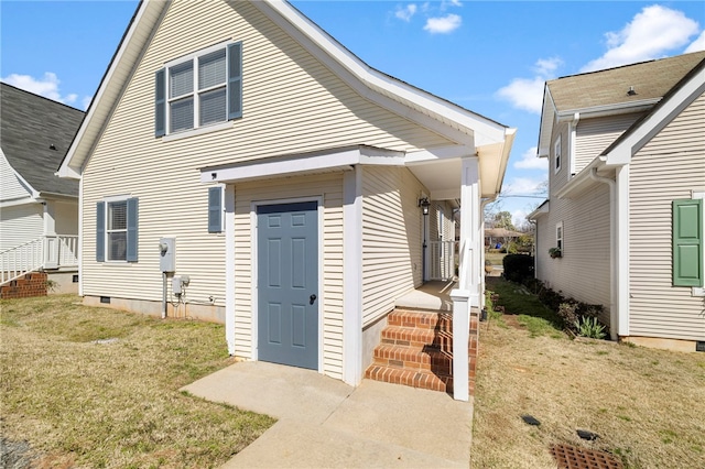
<svg viewBox="0 0 705 469"><path fill-rule="evenodd" d="M362 326L422 282L421 183L406 168L369 166L362 177Z"/></svg>

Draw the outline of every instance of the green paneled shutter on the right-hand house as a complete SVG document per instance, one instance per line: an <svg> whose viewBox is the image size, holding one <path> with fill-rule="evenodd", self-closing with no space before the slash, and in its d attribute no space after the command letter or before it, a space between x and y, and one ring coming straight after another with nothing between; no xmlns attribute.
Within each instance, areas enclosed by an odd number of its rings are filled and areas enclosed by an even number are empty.
<svg viewBox="0 0 705 469"><path fill-rule="evenodd" d="M703 286L703 200L673 200L673 286Z"/></svg>

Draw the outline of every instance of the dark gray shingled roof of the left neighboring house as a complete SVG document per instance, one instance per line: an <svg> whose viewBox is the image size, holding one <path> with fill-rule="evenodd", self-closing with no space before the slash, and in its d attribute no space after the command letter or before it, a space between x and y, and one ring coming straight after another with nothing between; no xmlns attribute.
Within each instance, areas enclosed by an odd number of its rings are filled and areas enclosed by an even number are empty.
<svg viewBox="0 0 705 469"><path fill-rule="evenodd" d="M78 196L77 181L54 173L83 119L78 109L0 83L0 148L14 171L40 193Z"/></svg>

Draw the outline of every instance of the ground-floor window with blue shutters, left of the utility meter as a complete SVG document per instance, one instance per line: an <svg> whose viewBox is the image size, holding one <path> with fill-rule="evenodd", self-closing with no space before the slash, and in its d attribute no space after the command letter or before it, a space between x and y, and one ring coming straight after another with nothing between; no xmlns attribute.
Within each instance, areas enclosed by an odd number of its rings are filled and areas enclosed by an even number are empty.
<svg viewBox="0 0 705 469"><path fill-rule="evenodd" d="M96 261L137 262L138 199L116 198L96 205Z"/></svg>

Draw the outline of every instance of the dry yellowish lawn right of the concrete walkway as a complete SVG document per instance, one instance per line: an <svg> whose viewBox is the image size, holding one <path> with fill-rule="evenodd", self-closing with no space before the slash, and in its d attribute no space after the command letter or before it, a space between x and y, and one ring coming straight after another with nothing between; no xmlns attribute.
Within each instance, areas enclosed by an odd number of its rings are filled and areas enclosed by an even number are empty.
<svg viewBox="0 0 705 469"><path fill-rule="evenodd" d="M571 340L525 288L495 277L487 288L506 314L480 324L473 468L555 468L554 444L627 468L705 468L705 353Z"/></svg>

